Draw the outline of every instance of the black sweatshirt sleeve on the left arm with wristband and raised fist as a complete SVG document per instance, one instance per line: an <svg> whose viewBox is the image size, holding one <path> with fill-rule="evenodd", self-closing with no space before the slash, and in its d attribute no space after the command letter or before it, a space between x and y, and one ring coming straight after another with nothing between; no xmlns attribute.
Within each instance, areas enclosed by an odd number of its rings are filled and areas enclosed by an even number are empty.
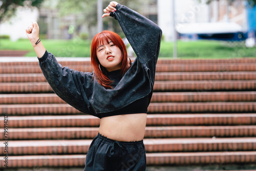
<svg viewBox="0 0 256 171"><path fill-rule="evenodd" d="M47 51L38 60L42 73L54 93L75 109L91 114L89 111L90 103L86 94L90 94L88 90L91 87L92 73L78 72L68 67L62 68L54 55Z"/></svg>

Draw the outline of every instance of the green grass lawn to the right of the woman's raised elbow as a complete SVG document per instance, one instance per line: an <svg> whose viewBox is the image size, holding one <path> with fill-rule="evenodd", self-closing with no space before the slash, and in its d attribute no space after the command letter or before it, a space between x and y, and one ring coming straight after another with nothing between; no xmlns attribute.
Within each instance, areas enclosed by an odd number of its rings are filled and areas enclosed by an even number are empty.
<svg viewBox="0 0 256 171"><path fill-rule="evenodd" d="M161 44L160 57L173 56L173 44L163 42ZM178 41L178 58L240 58L256 57L256 47L246 48L244 43L221 42L210 40Z"/></svg>

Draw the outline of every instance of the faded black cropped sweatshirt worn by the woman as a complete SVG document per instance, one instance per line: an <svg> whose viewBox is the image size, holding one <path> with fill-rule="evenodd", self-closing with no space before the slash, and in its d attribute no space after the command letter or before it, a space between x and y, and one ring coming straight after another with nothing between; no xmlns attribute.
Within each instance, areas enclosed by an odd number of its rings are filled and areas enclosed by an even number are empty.
<svg viewBox="0 0 256 171"><path fill-rule="evenodd" d="M53 91L75 109L99 118L145 96L152 97L162 31L151 20L118 4L111 16L118 20L137 57L113 89L102 87L90 72L62 67L53 54L46 53L39 66ZM111 79L111 78L110 78ZM148 105L148 104L147 104ZM117 115L117 114L113 114Z"/></svg>

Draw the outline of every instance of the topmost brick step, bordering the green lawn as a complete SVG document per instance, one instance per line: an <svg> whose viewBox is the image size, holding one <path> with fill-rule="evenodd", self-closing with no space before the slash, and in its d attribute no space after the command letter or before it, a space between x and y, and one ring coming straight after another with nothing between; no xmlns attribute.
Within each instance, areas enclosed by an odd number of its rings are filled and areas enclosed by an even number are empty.
<svg viewBox="0 0 256 171"><path fill-rule="evenodd" d="M91 58L90 57L56 57L57 61L62 66L69 66L69 65L90 65ZM132 61L135 58L131 58ZM162 63L183 63L183 64L195 64L195 63L228 63L229 65L237 64L237 63L256 63L256 58L232 58L232 59L158 59L158 64ZM38 66L38 60L36 57L2 57L0 61L0 66L19 66L19 65L36 65Z"/></svg>

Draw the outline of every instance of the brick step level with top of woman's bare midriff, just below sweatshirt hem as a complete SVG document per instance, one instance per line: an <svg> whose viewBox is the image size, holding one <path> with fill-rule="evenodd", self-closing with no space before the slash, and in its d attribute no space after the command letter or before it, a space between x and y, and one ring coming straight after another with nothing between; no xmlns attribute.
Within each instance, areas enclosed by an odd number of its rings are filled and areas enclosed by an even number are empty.
<svg viewBox="0 0 256 171"><path fill-rule="evenodd" d="M8 127L94 127L100 119L90 115L9 116ZM256 114L148 114L147 126L256 125ZM4 123L0 122L0 127Z"/></svg>

